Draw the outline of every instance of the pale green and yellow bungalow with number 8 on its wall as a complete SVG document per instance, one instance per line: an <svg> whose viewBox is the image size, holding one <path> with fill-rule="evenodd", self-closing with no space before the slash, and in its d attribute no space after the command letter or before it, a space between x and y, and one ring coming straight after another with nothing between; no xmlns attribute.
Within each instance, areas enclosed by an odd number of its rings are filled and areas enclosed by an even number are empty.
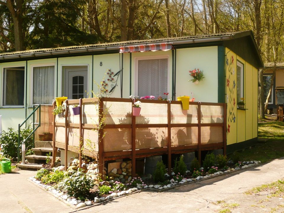
<svg viewBox="0 0 284 213"><path fill-rule="evenodd" d="M227 102L227 151L231 152L257 141L260 67L251 31L2 53L2 126L17 128L33 104L49 106L45 122L50 124L54 97L87 97L97 90L94 81L104 78L108 83L108 78L119 77L106 86L109 93L117 85L111 97L157 97L169 92L172 100L189 95L201 102ZM194 68L205 75L199 84L188 82L188 71ZM110 77L105 76L107 70L113 72ZM241 98L245 109L237 107Z"/></svg>

